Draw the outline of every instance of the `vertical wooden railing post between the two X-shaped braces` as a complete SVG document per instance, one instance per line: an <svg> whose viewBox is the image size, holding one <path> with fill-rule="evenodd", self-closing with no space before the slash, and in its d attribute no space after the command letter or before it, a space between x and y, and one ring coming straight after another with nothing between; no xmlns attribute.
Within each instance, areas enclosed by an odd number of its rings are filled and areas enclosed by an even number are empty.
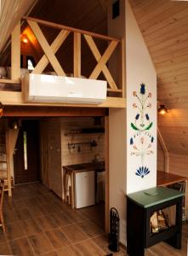
<svg viewBox="0 0 188 256"><path fill-rule="evenodd" d="M81 34L74 32L74 77L81 76Z"/></svg>

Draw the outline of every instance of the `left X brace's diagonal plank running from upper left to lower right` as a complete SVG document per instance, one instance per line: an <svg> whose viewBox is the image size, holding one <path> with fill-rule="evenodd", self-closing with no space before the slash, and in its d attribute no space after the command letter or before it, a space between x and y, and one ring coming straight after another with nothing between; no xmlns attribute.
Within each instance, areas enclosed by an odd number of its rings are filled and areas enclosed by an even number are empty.
<svg viewBox="0 0 188 256"><path fill-rule="evenodd" d="M48 58L48 61L54 68L55 73L58 76L66 76L66 73L63 71L62 67L60 67L60 63L54 55L53 50L50 48L47 39L44 37L43 32L40 27L37 25L36 21L27 20L29 26L31 27L32 32L37 38L38 43L41 45L45 55Z"/></svg>

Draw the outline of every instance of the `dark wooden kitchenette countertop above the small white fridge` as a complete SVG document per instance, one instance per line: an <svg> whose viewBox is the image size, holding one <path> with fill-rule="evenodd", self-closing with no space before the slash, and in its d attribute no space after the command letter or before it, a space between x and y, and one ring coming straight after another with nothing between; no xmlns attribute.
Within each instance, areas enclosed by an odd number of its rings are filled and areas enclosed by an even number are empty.
<svg viewBox="0 0 188 256"><path fill-rule="evenodd" d="M77 165L69 165L69 166L63 166L63 168L69 172L88 172L92 170L96 172L103 172L105 171L105 162L97 161L97 162L83 163L83 164L77 164Z"/></svg>

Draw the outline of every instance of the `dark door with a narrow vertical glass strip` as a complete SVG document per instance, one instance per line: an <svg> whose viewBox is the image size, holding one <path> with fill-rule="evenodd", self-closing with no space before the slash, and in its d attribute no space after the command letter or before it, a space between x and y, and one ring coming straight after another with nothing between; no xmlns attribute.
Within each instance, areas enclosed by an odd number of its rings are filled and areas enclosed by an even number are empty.
<svg viewBox="0 0 188 256"><path fill-rule="evenodd" d="M40 179L39 123L22 120L14 150L14 183L31 183Z"/></svg>

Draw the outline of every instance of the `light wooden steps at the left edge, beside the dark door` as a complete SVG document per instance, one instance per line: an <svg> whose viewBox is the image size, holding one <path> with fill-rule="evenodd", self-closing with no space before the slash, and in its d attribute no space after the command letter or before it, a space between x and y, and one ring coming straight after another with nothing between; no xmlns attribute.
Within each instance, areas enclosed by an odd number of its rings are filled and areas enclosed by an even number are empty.
<svg viewBox="0 0 188 256"><path fill-rule="evenodd" d="M14 188L14 147L19 130L9 129L0 134L0 179L4 180L4 191L12 196Z"/></svg>

